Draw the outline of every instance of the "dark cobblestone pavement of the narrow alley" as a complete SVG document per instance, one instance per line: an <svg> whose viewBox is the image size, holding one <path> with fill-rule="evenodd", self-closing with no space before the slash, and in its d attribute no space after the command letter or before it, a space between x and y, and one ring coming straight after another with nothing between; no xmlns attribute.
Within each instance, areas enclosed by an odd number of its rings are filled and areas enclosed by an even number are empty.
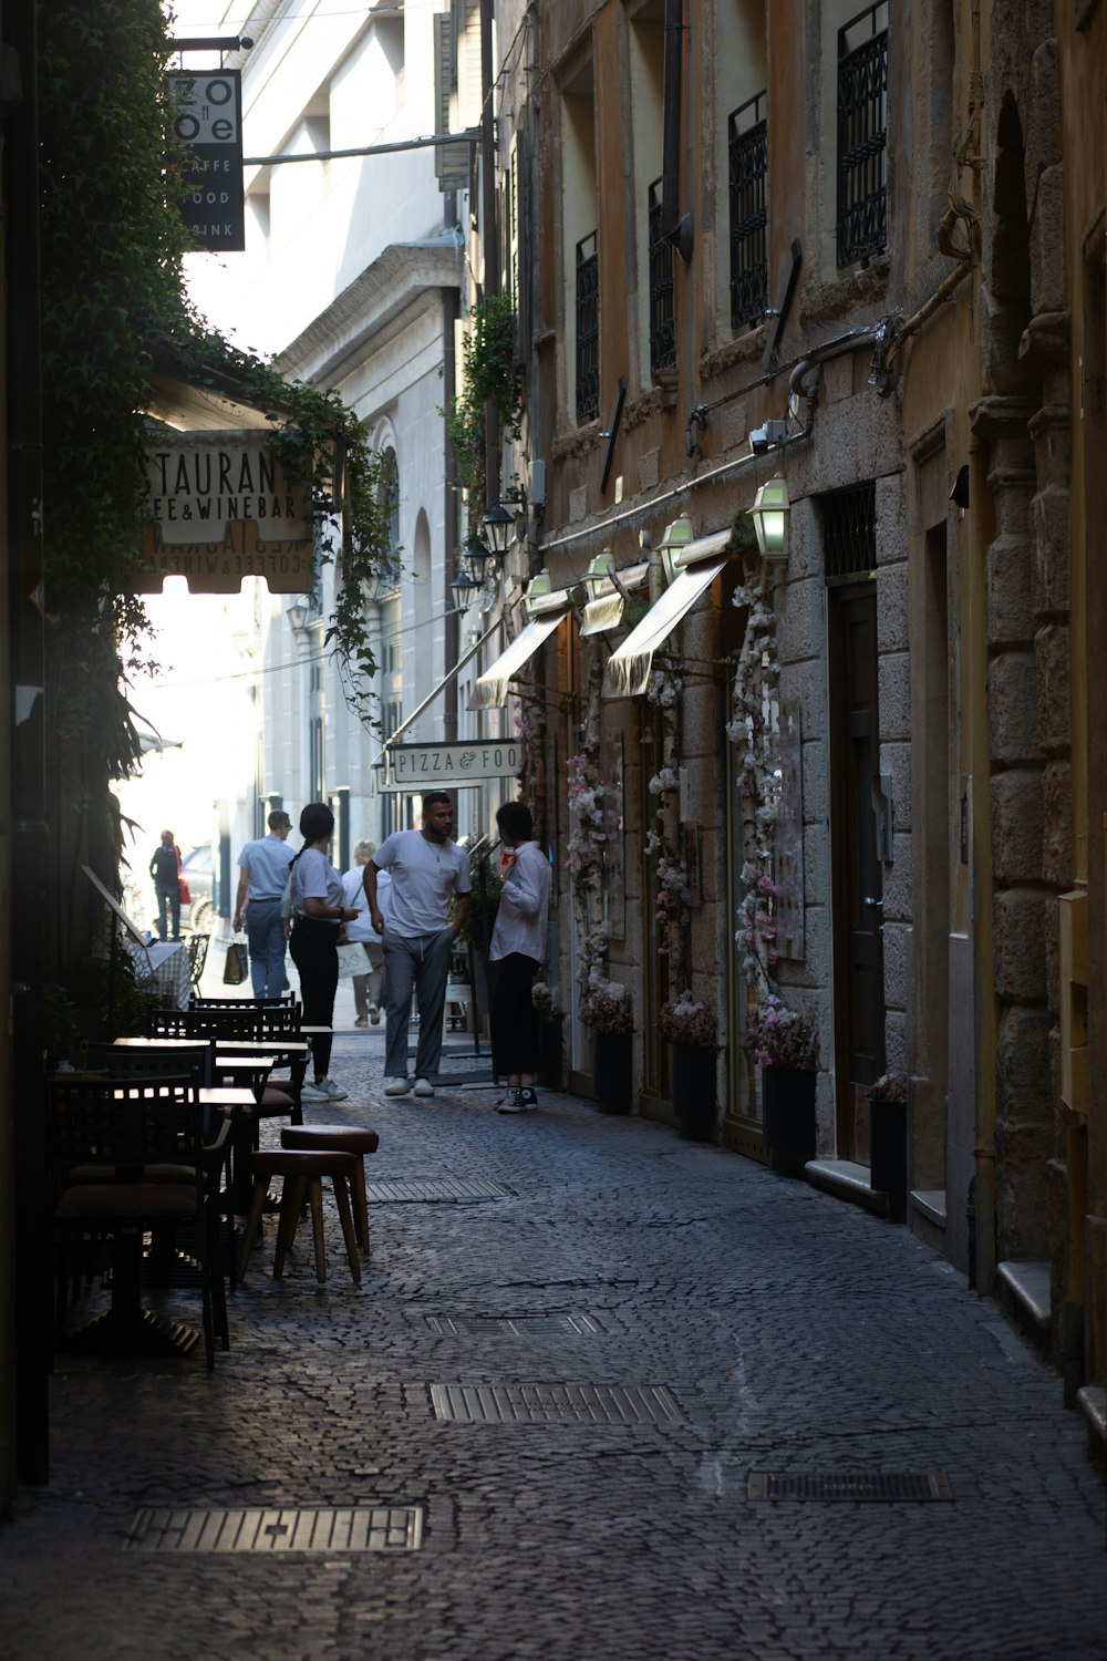
<svg viewBox="0 0 1107 1661"><path fill-rule="evenodd" d="M1107 1656L1082 1420L918 1239L568 1095L383 1101L382 1060L342 1033L349 1100L312 1115L378 1128L397 1184L360 1287L330 1214L325 1287L305 1229L274 1282L267 1229L214 1375L58 1359L51 1482L0 1530L3 1661ZM757 1472L953 1497L752 1498ZM141 1512L332 1507L418 1508L420 1543L128 1548Z"/></svg>

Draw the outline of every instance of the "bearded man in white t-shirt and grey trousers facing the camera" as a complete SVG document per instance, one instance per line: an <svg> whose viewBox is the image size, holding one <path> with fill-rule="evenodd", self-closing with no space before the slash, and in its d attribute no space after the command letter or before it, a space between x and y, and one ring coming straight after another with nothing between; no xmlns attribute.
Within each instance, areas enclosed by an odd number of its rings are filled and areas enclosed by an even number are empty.
<svg viewBox="0 0 1107 1661"><path fill-rule="evenodd" d="M387 920L377 892L383 870L392 872ZM368 915L385 952L385 1095L403 1096L410 1090L407 1043L415 992L415 1095L433 1096L450 958L470 909L470 857L453 840L453 801L445 791L423 797L422 829L385 837L362 880Z"/></svg>

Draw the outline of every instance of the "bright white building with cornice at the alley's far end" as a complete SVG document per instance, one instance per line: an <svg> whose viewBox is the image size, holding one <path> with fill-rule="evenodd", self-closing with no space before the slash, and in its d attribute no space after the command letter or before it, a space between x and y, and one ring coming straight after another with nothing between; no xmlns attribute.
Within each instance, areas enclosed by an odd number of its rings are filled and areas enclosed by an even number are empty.
<svg viewBox="0 0 1107 1661"><path fill-rule="evenodd" d="M227 804L221 837L226 847L239 832L259 834L276 802L295 822L304 802L325 799L337 821L335 862L345 865L358 837L380 840L418 812L418 797L382 791L382 737L427 699L405 741L476 731L480 718L465 714L450 671L480 633L480 615L461 615L451 598L465 523L448 478L443 414L471 289L463 228L473 146L337 153L476 126L478 5L232 3L217 32L252 40L251 50L224 56L242 71L247 246L242 254L191 256L193 292L242 347L276 354L294 379L335 389L390 452L403 568L392 593L368 601L380 701L373 729L350 713L325 648L334 570L324 566L319 605L304 626L285 616L300 623L290 596L261 591L251 641L257 777L244 781L237 807ZM312 159L264 159L289 156ZM458 829L480 835L510 792L510 779L461 791Z"/></svg>

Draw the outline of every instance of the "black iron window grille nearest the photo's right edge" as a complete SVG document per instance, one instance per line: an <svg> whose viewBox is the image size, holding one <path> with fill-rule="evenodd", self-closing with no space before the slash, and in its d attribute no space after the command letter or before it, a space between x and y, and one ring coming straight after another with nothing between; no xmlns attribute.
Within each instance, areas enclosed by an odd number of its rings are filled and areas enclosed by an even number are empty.
<svg viewBox="0 0 1107 1661"><path fill-rule="evenodd" d="M888 246L888 3L838 30L838 264Z"/></svg>

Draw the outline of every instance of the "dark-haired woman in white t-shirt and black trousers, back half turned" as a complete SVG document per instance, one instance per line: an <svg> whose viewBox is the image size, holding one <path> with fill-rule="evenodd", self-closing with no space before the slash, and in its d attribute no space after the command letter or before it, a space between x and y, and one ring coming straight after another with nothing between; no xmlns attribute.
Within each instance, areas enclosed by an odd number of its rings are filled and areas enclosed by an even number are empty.
<svg viewBox="0 0 1107 1661"><path fill-rule="evenodd" d="M342 1101L327 1076L330 1066L330 1023L339 985L339 930L357 915L344 905L342 877L327 859L334 835L334 814L325 802L309 802L300 814L304 847L292 860L289 890L292 900L292 938L289 950L300 972L304 1025L322 1026L312 1033L312 1066L315 1081L300 1090L304 1101Z"/></svg>

